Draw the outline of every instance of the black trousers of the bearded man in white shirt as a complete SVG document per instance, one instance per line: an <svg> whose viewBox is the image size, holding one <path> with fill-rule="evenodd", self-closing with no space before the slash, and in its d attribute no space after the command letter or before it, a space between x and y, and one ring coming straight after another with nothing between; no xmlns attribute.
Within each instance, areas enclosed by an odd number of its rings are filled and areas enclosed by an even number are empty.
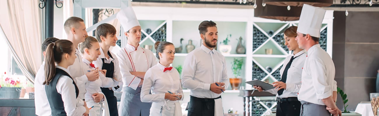
<svg viewBox="0 0 379 116"><path fill-rule="evenodd" d="M188 116L215 116L215 99L217 98L197 98L190 96L188 106Z"/></svg>

